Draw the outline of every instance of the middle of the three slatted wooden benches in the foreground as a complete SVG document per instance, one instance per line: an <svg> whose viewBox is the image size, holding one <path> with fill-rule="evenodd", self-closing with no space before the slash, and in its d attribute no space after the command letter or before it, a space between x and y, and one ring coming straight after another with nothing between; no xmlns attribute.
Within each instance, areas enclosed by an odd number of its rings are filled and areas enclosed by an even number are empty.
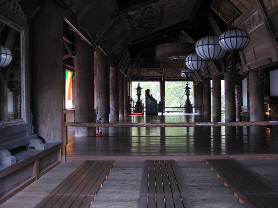
<svg viewBox="0 0 278 208"><path fill-rule="evenodd" d="M145 160L139 208L192 208L174 160Z"/></svg>

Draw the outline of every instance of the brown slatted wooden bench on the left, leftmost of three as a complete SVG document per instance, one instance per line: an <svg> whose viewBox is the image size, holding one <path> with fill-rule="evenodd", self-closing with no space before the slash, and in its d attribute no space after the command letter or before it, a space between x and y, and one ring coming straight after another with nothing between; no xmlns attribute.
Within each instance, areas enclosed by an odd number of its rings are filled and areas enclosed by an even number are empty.
<svg viewBox="0 0 278 208"><path fill-rule="evenodd" d="M115 161L86 160L35 208L87 208Z"/></svg>

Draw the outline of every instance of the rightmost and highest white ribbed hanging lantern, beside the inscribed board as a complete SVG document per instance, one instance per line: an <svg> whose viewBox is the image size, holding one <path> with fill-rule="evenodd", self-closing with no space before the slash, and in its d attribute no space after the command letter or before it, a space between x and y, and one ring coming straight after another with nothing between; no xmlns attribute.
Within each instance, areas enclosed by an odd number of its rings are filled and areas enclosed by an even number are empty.
<svg viewBox="0 0 278 208"><path fill-rule="evenodd" d="M248 33L237 28L227 30L219 37L219 45L227 51L243 49L249 44L249 41Z"/></svg>

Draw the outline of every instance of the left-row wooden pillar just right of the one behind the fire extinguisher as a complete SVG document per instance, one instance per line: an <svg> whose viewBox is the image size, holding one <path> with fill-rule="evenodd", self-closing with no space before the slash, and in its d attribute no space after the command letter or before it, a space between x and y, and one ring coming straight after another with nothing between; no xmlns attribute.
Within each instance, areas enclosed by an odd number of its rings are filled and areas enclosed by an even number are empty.
<svg viewBox="0 0 278 208"><path fill-rule="evenodd" d="M110 115L109 121L119 120L119 68L110 66Z"/></svg>

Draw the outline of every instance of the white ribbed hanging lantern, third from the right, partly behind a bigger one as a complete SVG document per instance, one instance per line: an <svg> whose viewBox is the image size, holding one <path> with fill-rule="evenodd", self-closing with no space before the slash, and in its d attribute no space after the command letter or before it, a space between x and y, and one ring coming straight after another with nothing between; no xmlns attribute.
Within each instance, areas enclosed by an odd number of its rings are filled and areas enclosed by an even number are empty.
<svg viewBox="0 0 278 208"><path fill-rule="evenodd" d="M185 65L191 70L202 70L209 64L208 60L205 60L197 55L197 53L190 53L186 56Z"/></svg>

